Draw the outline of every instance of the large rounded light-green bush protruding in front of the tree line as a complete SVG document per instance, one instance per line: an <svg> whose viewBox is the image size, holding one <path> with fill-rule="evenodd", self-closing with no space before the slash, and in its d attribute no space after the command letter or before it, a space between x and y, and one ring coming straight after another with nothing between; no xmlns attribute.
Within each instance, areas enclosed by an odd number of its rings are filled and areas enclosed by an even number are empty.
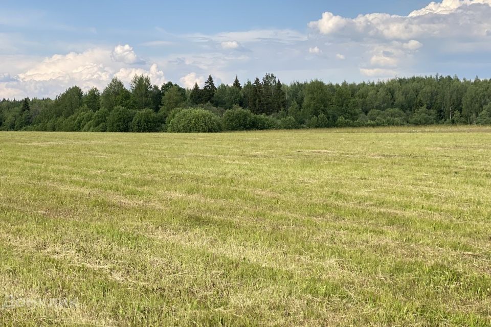
<svg viewBox="0 0 491 327"><path fill-rule="evenodd" d="M173 133L209 133L221 131L218 117L204 109L184 109L169 122L167 131Z"/></svg>

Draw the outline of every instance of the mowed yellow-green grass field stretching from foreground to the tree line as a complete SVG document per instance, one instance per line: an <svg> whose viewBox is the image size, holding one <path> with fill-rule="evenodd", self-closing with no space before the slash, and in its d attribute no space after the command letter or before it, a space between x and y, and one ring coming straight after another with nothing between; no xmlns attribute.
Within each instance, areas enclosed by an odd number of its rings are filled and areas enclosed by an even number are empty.
<svg viewBox="0 0 491 327"><path fill-rule="evenodd" d="M2 326L491 324L491 128L4 132L0 199Z"/></svg>

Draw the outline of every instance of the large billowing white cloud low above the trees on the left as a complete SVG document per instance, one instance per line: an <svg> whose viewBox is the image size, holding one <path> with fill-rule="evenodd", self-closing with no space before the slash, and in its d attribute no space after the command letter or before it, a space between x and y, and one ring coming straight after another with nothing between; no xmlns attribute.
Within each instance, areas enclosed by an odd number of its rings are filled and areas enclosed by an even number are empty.
<svg viewBox="0 0 491 327"><path fill-rule="evenodd" d="M155 84L165 82L164 73L157 64L135 66L139 62L137 58L129 45L118 45L113 50L96 48L81 53L56 54L33 63L16 76L3 74L0 97L54 97L73 85L85 90L94 86L102 89L113 77L128 84L135 74L147 75Z"/></svg>

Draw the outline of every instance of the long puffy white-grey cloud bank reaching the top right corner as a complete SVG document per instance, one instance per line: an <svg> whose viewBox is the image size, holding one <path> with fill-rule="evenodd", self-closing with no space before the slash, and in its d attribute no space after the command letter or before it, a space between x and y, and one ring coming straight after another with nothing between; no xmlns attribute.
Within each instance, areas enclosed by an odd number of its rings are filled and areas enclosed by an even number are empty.
<svg viewBox="0 0 491 327"><path fill-rule="evenodd" d="M346 18L330 12L308 26L350 38L410 40L429 37L483 37L491 29L491 0L443 0L408 16L372 13Z"/></svg>

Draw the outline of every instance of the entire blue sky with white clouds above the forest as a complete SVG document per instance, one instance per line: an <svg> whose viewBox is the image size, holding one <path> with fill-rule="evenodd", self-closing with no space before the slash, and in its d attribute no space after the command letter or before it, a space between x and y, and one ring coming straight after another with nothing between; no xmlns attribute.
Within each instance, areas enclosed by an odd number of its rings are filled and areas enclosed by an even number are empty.
<svg viewBox="0 0 491 327"><path fill-rule="evenodd" d="M0 99L103 89L135 74L191 88L491 77L491 0L0 3Z"/></svg>

